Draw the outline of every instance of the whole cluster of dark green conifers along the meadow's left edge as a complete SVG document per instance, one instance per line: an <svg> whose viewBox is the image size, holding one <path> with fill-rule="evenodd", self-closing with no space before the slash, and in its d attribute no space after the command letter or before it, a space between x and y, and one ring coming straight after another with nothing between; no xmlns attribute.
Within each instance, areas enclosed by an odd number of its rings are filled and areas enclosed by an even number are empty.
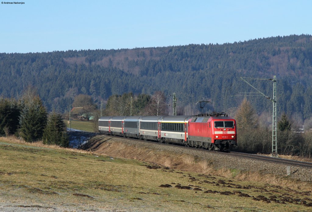
<svg viewBox="0 0 312 212"><path fill-rule="evenodd" d="M0 97L0 135L9 134L26 142L42 140L43 144L61 147L69 144L61 114L53 111L48 115L31 88L18 100Z"/></svg>

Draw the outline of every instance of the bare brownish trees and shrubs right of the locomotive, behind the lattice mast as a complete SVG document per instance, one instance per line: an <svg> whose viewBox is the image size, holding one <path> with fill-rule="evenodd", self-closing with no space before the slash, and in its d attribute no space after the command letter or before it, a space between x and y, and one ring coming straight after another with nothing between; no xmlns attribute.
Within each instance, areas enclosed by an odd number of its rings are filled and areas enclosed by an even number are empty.
<svg viewBox="0 0 312 212"><path fill-rule="evenodd" d="M272 125L261 119L245 98L234 115L237 125L238 151L272 153ZM269 127L270 126L270 127ZM305 131L295 120L282 114L277 122L277 153L312 158L312 120Z"/></svg>

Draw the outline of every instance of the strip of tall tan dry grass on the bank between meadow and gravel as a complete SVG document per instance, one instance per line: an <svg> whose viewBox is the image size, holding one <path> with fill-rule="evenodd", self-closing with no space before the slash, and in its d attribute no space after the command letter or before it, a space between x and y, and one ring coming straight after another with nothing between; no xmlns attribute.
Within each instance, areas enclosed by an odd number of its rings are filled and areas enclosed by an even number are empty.
<svg viewBox="0 0 312 212"><path fill-rule="evenodd" d="M280 176L263 174L260 172L230 170L225 167L216 170L213 168L213 163L211 161L196 158L193 155L176 154L169 151L153 151L147 147L129 145L122 141L109 141L107 140L108 138L109 136L104 136L104 138L100 141L97 141L96 139L93 140L93 146L97 146L98 142L104 143L92 151L97 154L105 154L128 159L139 159L182 171L211 174L244 181L266 182L277 186L288 186L290 188L297 188L299 186L302 189L309 191L312 189L311 183L309 182L285 179Z"/></svg>

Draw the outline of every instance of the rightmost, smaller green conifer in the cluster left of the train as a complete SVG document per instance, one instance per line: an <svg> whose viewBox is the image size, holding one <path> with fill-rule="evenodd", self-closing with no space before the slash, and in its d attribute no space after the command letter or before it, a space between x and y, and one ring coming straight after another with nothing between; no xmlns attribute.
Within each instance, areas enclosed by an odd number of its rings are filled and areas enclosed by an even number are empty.
<svg viewBox="0 0 312 212"><path fill-rule="evenodd" d="M67 147L69 144L66 136L66 126L61 114L55 111L49 116L48 123L43 133L44 144L56 144L61 147Z"/></svg>

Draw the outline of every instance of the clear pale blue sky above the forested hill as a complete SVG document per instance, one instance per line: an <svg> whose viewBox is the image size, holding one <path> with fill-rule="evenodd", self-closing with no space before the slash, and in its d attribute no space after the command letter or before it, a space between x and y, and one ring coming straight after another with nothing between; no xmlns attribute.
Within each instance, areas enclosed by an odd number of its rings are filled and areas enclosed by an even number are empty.
<svg viewBox="0 0 312 212"><path fill-rule="evenodd" d="M233 43L312 34L312 0L0 4L0 53Z"/></svg>

